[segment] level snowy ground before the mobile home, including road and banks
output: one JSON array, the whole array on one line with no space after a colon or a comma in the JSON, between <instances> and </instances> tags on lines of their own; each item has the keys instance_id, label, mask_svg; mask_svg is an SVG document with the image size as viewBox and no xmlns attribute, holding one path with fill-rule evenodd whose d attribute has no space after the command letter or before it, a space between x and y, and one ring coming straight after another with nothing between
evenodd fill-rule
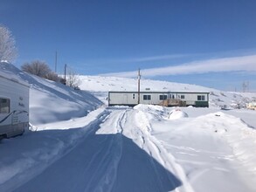
<instances>
[{"instance_id":1,"label":"level snowy ground before the mobile home, including road and banks","mask_svg":"<svg viewBox=\"0 0 256 192\"><path fill-rule=\"evenodd\" d=\"M169 120L168 110L101 108L5 140L0 191L255 190L253 127L211 109Z\"/></svg>"}]
</instances>

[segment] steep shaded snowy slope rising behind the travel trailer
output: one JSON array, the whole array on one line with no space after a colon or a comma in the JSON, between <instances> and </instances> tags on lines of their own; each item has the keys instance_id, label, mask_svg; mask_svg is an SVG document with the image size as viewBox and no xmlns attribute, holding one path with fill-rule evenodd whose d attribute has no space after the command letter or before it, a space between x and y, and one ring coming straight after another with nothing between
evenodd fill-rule
<instances>
[{"instance_id":1,"label":"steep shaded snowy slope rising behind the travel trailer","mask_svg":"<svg viewBox=\"0 0 256 192\"><path fill-rule=\"evenodd\" d=\"M74 91L68 86L22 72L16 66L0 63L0 71L24 79L31 85L30 121L42 124L86 115L102 105L91 93Z\"/></svg>"}]
</instances>

